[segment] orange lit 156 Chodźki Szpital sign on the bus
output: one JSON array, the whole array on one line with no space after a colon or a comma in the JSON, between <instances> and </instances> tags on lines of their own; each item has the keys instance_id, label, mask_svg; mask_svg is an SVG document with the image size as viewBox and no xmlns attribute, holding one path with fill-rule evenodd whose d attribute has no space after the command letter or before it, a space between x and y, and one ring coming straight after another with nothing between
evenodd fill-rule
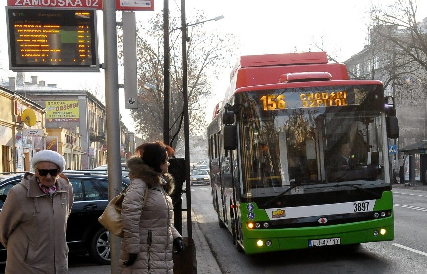
<instances>
[{"instance_id":1,"label":"orange lit 156 Chod\u017aki Szpital sign on the bus","mask_svg":"<svg viewBox=\"0 0 427 274\"><path fill-rule=\"evenodd\" d=\"M292 108L345 106L348 105L347 91L322 91L299 93L299 100L295 100L295 94L290 94ZM280 110L288 107L287 95L267 94L260 97L263 110ZM295 102L298 103L295 104Z\"/></svg>"}]
</instances>

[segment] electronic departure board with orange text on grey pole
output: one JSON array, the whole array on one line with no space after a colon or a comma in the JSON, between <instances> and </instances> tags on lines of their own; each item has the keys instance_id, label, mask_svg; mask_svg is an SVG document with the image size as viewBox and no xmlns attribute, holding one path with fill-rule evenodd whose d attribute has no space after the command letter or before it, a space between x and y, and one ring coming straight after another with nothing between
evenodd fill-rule
<instances>
[{"instance_id":1,"label":"electronic departure board with orange text on grey pole","mask_svg":"<svg viewBox=\"0 0 427 274\"><path fill-rule=\"evenodd\" d=\"M6 7L13 71L100 71L96 9Z\"/></svg>"}]
</instances>

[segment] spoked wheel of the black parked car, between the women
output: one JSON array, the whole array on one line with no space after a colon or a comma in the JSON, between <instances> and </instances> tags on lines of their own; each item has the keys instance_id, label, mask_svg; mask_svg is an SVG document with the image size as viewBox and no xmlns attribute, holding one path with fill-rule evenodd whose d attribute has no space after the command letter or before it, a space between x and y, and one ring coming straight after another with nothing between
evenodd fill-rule
<instances>
[{"instance_id":1,"label":"spoked wheel of the black parked car, between the women","mask_svg":"<svg viewBox=\"0 0 427 274\"><path fill-rule=\"evenodd\" d=\"M101 227L93 234L89 246L89 255L96 262L107 265L111 263L110 249L110 231Z\"/></svg>"}]
</instances>

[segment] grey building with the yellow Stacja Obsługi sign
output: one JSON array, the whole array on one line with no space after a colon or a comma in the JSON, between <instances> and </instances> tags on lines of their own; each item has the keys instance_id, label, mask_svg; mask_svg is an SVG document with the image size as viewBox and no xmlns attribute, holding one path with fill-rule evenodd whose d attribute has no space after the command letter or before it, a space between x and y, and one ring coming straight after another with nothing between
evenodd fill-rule
<instances>
[{"instance_id":1,"label":"grey building with the yellow Stacja Obs\u0142ugi sign","mask_svg":"<svg viewBox=\"0 0 427 274\"><path fill-rule=\"evenodd\" d=\"M37 76L25 81L23 73L10 77L3 87L22 98L31 100L44 112L41 128L46 128L47 138L56 136L58 152L66 157L67 168L92 169L107 164L106 109L89 91L66 90L55 84L46 85ZM134 134L121 122L122 160L133 153ZM128 132L125 134L125 132ZM125 148L128 153L125 154Z\"/></svg>"}]
</instances>

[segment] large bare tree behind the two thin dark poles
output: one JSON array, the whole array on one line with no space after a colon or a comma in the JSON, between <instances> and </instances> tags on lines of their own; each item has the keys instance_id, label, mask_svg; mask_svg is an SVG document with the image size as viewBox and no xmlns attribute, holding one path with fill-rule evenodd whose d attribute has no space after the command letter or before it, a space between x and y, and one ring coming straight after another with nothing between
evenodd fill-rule
<instances>
[{"instance_id":1,"label":"large bare tree behind the two thin dark poles","mask_svg":"<svg viewBox=\"0 0 427 274\"><path fill-rule=\"evenodd\" d=\"M197 11L197 16L189 22L205 20L204 12ZM182 45L180 17L170 17L170 113L172 146L182 139L183 97L182 97ZM206 24L206 23L204 23ZM188 62L188 107L190 134L202 133L207 127L204 105L212 97L209 79L217 77L220 70L230 67L235 60L231 43L231 34L218 30L208 32L203 25L188 27L187 62ZM122 37L119 35L119 41ZM119 57L122 50L119 49ZM131 110L136 131L147 140L162 139L163 131L163 18L162 13L155 15L148 24L140 23L137 28L138 58L138 109ZM156 89L144 89L149 82ZM204 83L203 85L200 85Z\"/></svg>"}]
</instances>

